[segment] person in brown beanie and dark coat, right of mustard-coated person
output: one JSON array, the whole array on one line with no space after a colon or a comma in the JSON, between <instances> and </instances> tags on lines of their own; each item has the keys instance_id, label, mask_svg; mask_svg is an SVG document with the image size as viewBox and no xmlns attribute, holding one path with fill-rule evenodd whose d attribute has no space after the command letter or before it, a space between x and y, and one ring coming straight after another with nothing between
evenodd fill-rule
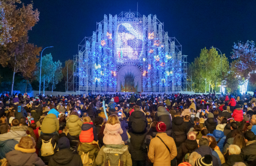
<instances>
[{"instance_id":1,"label":"person in brown beanie and dark coat, right of mustard-coated person","mask_svg":"<svg viewBox=\"0 0 256 166\"><path fill-rule=\"evenodd\" d=\"M180 148L178 149L177 163L179 164L184 161L188 162L189 156L186 154L187 153L191 154L197 148L198 148L198 144L196 141L196 133L193 131L189 132L187 135L186 141L181 143Z\"/></svg>"}]
</instances>

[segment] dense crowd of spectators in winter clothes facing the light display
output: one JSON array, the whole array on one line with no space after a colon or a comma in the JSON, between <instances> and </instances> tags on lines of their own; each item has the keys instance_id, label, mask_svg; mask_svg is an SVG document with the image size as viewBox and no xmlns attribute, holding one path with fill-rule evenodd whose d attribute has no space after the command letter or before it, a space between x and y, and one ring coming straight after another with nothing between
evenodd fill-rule
<instances>
[{"instance_id":1,"label":"dense crowd of spectators in winter clothes facing the light display","mask_svg":"<svg viewBox=\"0 0 256 166\"><path fill-rule=\"evenodd\" d=\"M2 166L255 166L250 94L0 97Z\"/></svg>"}]
</instances>

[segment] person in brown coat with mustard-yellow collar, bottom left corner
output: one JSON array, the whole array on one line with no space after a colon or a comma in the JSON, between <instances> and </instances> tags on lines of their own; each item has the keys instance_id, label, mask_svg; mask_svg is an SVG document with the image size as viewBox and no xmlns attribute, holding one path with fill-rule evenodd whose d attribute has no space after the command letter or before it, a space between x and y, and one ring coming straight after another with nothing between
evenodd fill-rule
<instances>
[{"instance_id":1,"label":"person in brown coat with mustard-yellow collar, bottom left corner","mask_svg":"<svg viewBox=\"0 0 256 166\"><path fill-rule=\"evenodd\" d=\"M45 163L37 156L35 140L30 136L24 136L19 144L15 145L15 150L6 154L7 165L35 165L45 166ZM2 163L3 165L3 163Z\"/></svg>"}]
</instances>

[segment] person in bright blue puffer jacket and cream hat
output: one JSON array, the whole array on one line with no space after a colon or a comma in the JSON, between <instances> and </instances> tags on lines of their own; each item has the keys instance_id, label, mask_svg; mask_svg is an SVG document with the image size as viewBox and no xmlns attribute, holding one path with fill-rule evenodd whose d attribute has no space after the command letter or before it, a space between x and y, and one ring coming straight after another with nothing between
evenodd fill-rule
<instances>
[{"instance_id":1,"label":"person in bright blue puffer jacket and cream hat","mask_svg":"<svg viewBox=\"0 0 256 166\"><path fill-rule=\"evenodd\" d=\"M223 151L224 148L224 142L226 139L226 136L224 135L224 127L225 125L219 124L217 125L216 129L213 131L213 134L207 134L210 136L213 136L215 140L217 141L217 146L220 148L220 151Z\"/></svg>"}]
</instances>

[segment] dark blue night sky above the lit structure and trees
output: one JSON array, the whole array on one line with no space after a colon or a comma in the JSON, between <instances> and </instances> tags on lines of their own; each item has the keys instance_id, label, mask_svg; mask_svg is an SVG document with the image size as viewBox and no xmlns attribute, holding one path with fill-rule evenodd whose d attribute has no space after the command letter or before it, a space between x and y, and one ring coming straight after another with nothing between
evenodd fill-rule
<instances>
[{"instance_id":1,"label":"dark blue night sky above the lit structure and trees","mask_svg":"<svg viewBox=\"0 0 256 166\"><path fill-rule=\"evenodd\" d=\"M234 42L256 41L255 0L35 0L40 20L29 32L29 42L42 48L54 46L43 55L52 53L53 60L65 62L78 53L85 36L92 36L104 14L114 17L137 11L137 2L141 15L157 15L168 36L177 38L188 62L210 46L230 60Z\"/></svg>"}]
</instances>

